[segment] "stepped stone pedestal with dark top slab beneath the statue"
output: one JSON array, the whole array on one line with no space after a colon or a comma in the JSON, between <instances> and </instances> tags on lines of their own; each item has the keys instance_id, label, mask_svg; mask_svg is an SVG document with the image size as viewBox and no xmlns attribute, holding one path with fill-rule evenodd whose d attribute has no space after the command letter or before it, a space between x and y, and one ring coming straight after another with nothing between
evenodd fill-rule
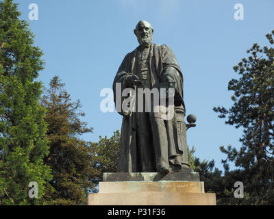
<instances>
[{"instance_id":1,"label":"stepped stone pedestal with dark top slab beneath the statue","mask_svg":"<svg viewBox=\"0 0 274 219\"><path fill-rule=\"evenodd\" d=\"M171 172L104 173L99 193L88 195L88 205L216 205L205 193L199 173L191 169Z\"/></svg>"}]
</instances>

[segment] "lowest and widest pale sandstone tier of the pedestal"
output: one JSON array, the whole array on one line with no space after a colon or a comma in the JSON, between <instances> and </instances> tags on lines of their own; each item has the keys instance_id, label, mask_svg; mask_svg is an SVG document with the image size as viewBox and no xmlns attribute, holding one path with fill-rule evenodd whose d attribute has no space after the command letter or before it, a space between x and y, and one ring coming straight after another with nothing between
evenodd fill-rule
<instances>
[{"instance_id":1,"label":"lowest and widest pale sandstone tier of the pedestal","mask_svg":"<svg viewBox=\"0 0 274 219\"><path fill-rule=\"evenodd\" d=\"M216 205L214 193L119 192L88 195L88 205Z\"/></svg>"}]
</instances>

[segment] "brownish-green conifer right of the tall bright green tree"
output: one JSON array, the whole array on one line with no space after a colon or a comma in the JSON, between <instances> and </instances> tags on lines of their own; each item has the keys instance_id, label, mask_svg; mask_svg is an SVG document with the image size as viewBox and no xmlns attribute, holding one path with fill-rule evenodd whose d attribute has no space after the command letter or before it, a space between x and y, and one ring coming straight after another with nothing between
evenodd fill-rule
<instances>
[{"instance_id":1,"label":"brownish-green conifer right of the tall bright green tree","mask_svg":"<svg viewBox=\"0 0 274 219\"><path fill-rule=\"evenodd\" d=\"M80 120L85 116L79 112L79 100L72 102L55 76L49 83L42 98L47 108L45 120L49 124L47 136L50 140L49 155L45 164L52 169L53 179L47 184L43 198L47 205L85 205L86 196L92 190L90 181L95 170L92 169L92 150L88 142L79 139L83 133L91 133L87 123Z\"/></svg>"}]
</instances>

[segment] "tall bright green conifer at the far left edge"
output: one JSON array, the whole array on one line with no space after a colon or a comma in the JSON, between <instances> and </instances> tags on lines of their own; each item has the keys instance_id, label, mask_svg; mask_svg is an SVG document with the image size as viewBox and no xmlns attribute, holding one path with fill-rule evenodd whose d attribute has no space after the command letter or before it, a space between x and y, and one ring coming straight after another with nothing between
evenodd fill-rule
<instances>
[{"instance_id":1,"label":"tall bright green conifer at the far left edge","mask_svg":"<svg viewBox=\"0 0 274 219\"><path fill-rule=\"evenodd\" d=\"M42 83L42 51L12 0L0 1L0 205L38 205L51 178L43 158L49 147ZM38 198L29 198L29 183Z\"/></svg>"}]
</instances>

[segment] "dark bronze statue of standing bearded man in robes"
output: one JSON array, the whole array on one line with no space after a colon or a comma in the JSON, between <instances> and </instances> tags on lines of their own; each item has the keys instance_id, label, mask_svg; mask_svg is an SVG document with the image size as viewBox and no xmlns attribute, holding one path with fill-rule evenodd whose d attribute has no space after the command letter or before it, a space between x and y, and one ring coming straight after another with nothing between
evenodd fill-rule
<instances>
[{"instance_id":1,"label":"dark bronze statue of standing bearded man in robes","mask_svg":"<svg viewBox=\"0 0 274 219\"><path fill-rule=\"evenodd\" d=\"M173 84L175 92L171 109L174 116L166 118L153 110L131 113L117 110L123 116L118 172L167 174L189 168L182 71L168 46L151 42L153 31L147 21L140 21L136 25L134 34L139 46L125 55L116 73L113 82L114 102L116 109L121 109L123 96L117 91L118 88L122 92L125 88L156 88L160 91L163 85ZM136 100L139 98L136 97ZM153 105L153 100L149 103ZM164 104L165 107L170 106L167 100Z\"/></svg>"}]
</instances>

